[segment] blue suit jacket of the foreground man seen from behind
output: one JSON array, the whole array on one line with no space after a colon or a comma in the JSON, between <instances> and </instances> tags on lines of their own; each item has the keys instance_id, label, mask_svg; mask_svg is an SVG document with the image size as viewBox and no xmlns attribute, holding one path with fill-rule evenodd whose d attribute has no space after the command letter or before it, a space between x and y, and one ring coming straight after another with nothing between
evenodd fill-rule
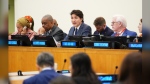
<instances>
[{"instance_id":1,"label":"blue suit jacket of the foreground man seen from behind","mask_svg":"<svg viewBox=\"0 0 150 84\"><path fill-rule=\"evenodd\" d=\"M44 70L39 74L23 81L23 84L48 84L52 79L59 76L54 69Z\"/></svg>"}]
</instances>

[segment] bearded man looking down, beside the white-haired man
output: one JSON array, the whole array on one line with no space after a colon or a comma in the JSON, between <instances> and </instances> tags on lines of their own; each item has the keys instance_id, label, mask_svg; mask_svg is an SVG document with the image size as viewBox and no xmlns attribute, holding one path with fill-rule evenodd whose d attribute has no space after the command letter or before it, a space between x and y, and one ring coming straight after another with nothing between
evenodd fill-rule
<instances>
[{"instance_id":1,"label":"bearded man looking down, beside the white-haired man","mask_svg":"<svg viewBox=\"0 0 150 84\"><path fill-rule=\"evenodd\" d=\"M114 33L113 30L106 26L106 21L103 17L97 17L93 24L96 27L93 35L111 36Z\"/></svg>"}]
</instances>

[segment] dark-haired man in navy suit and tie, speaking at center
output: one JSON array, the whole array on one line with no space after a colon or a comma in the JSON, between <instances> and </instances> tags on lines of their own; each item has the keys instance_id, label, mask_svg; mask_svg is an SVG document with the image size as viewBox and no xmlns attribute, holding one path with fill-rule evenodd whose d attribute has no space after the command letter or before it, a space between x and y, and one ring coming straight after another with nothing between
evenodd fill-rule
<instances>
[{"instance_id":1,"label":"dark-haired man in navy suit and tie, speaking at center","mask_svg":"<svg viewBox=\"0 0 150 84\"><path fill-rule=\"evenodd\" d=\"M73 26L70 28L68 35L64 40L68 40L68 36L88 36L91 35L91 27L84 23L83 13L80 10L73 10L71 13L71 22Z\"/></svg>"}]
</instances>

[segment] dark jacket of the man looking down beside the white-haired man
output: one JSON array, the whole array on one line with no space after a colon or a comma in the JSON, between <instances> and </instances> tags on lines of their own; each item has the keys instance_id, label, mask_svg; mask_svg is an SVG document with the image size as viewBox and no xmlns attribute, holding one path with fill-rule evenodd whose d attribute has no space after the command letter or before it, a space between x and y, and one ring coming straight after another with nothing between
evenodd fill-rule
<instances>
[{"instance_id":1,"label":"dark jacket of the man looking down beside the white-haired man","mask_svg":"<svg viewBox=\"0 0 150 84\"><path fill-rule=\"evenodd\" d=\"M113 30L111 30L108 26L106 26L105 30L100 32L100 35L111 36L113 34ZM98 31L95 31L93 35L99 35Z\"/></svg>"}]
</instances>

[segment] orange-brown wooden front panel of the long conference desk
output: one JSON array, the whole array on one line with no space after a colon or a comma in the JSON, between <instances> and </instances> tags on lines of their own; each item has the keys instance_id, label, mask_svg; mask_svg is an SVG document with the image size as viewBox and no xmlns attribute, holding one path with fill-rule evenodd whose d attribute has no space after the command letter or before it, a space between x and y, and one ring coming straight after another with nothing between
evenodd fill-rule
<instances>
[{"instance_id":1,"label":"orange-brown wooden front panel of the long conference desk","mask_svg":"<svg viewBox=\"0 0 150 84\"><path fill-rule=\"evenodd\" d=\"M57 70L68 70L70 57L78 52L89 55L93 69L96 73L114 74L115 67L120 68L123 58L131 49L98 49L98 48L62 48L62 47L32 47L32 46L9 46L8 65L9 72L37 71L36 58L41 52L50 52L57 63ZM64 59L66 63L64 64ZM64 65L64 68L63 68ZM119 70L116 70L118 73Z\"/></svg>"}]
</instances>

